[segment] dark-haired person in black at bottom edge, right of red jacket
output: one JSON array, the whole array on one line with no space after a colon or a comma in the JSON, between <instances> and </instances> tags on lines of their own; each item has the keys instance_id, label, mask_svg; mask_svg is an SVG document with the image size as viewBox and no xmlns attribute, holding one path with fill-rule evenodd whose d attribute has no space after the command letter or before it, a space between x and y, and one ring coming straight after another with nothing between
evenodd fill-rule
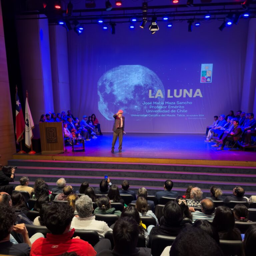
<instances>
[{"instance_id":1,"label":"dark-haired person in black at bottom edge, right of red jacket","mask_svg":"<svg viewBox=\"0 0 256 256\"><path fill-rule=\"evenodd\" d=\"M136 248L139 233L139 226L134 219L128 217L120 218L113 228L113 251L104 250L98 253L97 256L151 256L149 248Z\"/></svg>"}]
</instances>

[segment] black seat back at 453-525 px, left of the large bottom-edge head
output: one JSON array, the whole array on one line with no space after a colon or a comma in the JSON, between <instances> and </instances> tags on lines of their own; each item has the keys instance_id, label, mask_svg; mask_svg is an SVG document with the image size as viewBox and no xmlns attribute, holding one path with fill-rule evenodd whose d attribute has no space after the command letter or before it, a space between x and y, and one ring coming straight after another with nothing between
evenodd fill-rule
<instances>
[{"instance_id":1,"label":"black seat back at 453-525 px, left of the large bottom-edge head","mask_svg":"<svg viewBox=\"0 0 256 256\"><path fill-rule=\"evenodd\" d=\"M160 256L166 246L172 245L176 237L155 235L151 240L152 256Z\"/></svg>"}]
</instances>

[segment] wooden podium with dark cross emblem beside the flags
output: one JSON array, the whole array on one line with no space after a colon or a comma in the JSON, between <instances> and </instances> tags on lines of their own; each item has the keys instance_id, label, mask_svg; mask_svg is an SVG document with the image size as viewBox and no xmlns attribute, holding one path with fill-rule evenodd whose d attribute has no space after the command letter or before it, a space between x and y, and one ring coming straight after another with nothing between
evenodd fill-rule
<instances>
[{"instance_id":1,"label":"wooden podium with dark cross emblem beside the flags","mask_svg":"<svg viewBox=\"0 0 256 256\"><path fill-rule=\"evenodd\" d=\"M62 122L39 123L42 155L64 152Z\"/></svg>"}]
</instances>

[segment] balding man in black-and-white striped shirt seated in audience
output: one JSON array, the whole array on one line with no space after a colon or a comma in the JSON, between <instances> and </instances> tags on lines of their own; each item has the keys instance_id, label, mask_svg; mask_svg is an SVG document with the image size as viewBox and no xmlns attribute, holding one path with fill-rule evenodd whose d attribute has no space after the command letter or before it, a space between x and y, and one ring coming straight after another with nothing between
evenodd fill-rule
<instances>
[{"instance_id":1,"label":"balding man in black-and-white striped shirt seated in audience","mask_svg":"<svg viewBox=\"0 0 256 256\"><path fill-rule=\"evenodd\" d=\"M200 211L192 212L192 223L194 223L196 220L210 220L212 221L214 218L214 210L215 205L211 199L203 199L201 201L201 209Z\"/></svg>"}]
</instances>

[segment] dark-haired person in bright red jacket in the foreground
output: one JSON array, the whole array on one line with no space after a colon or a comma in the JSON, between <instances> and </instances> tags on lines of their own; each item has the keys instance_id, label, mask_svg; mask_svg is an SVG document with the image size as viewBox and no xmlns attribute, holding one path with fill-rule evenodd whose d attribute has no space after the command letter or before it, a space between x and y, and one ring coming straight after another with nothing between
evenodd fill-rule
<instances>
[{"instance_id":1,"label":"dark-haired person in bright red jacket in the foreground","mask_svg":"<svg viewBox=\"0 0 256 256\"><path fill-rule=\"evenodd\" d=\"M31 247L30 255L60 255L64 252L76 252L78 255L96 255L96 251L86 241L72 236L70 229L74 210L67 204L51 204L45 209L44 221L51 231L46 238L37 239Z\"/></svg>"}]
</instances>

